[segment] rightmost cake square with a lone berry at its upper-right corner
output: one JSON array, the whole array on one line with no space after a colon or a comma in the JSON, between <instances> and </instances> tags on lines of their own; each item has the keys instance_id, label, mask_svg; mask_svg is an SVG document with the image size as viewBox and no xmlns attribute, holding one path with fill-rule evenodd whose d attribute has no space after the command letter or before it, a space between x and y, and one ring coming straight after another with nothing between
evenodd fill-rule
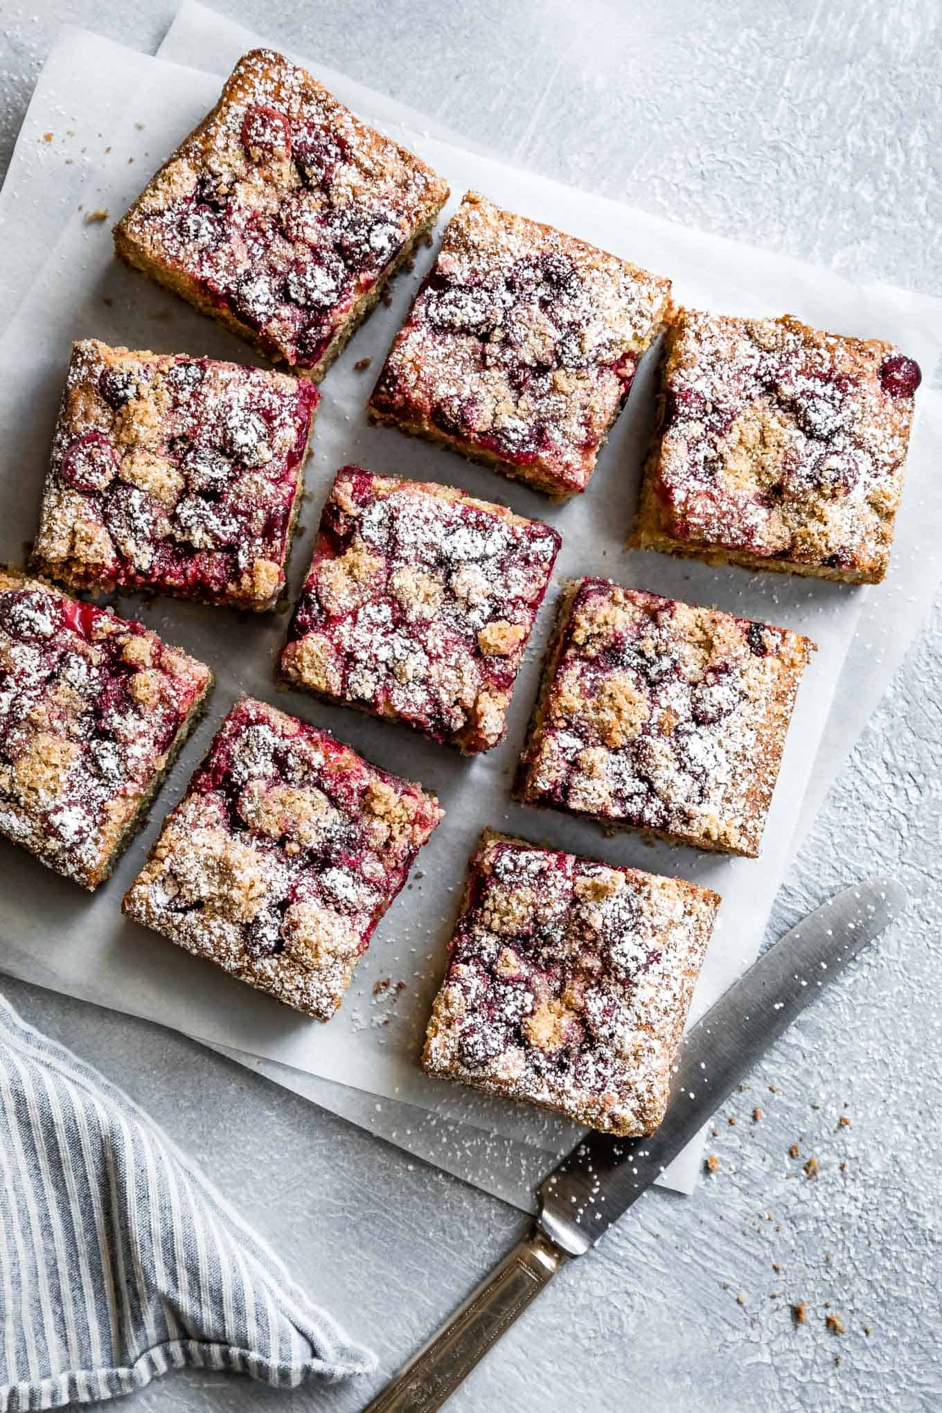
<instances>
[{"instance_id":1,"label":"rightmost cake square with a lone berry at its upper-right corner","mask_svg":"<svg viewBox=\"0 0 942 1413\"><path fill-rule=\"evenodd\" d=\"M890 343L685 309L631 544L878 584L919 366Z\"/></svg>"}]
</instances>

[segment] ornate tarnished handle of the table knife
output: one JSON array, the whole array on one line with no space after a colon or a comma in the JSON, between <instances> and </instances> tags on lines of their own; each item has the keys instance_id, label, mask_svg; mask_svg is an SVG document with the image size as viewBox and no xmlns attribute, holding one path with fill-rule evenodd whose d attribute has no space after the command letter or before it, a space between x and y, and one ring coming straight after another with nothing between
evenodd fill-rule
<instances>
[{"instance_id":1,"label":"ornate tarnished handle of the table knife","mask_svg":"<svg viewBox=\"0 0 942 1413\"><path fill-rule=\"evenodd\" d=\"M549 1284L565 1252L534 1232L521 1241L363 1413L434 1413Z\"/></svg>"}]
</instances>

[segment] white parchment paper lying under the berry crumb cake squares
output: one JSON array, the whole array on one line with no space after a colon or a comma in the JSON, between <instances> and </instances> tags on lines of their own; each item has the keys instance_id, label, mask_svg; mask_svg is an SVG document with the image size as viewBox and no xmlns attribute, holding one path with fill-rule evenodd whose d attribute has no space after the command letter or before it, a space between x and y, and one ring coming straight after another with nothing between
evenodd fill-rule
<instances>
[{"instance_id":1,"label":"white parchment paper lying under the berry crumb cake squares","mask_svg":"<svg viewBox=\"0 0 942 1413\"><path fill-rule=\"evenodd\" d=\"M85 205L107 206L113 216L124 209L153 168L212 105L219 90L217 78L147 59L79 31L65 37L52 62L59 65L59 88L48 85L44 92L44 102L49 106L42 122L48 122L54 134L56 123L59 130L65 127L68 131L71 126L76 133L76 153L92 140L97 144L102 167ZM227 59L225 68L229 68ZM86 85L96 95L96 113L105 110L105 96L120 86L124 99L109 110L113 131L103 133L97 127L93 134L90 129L82 129L82 119L75 114L82 113ZM336 79L333 86L340 96L350 97ZM133 95L130 100L129 93ZM364 116L377 116L363 103L359 106ZM31 112L30 120L34 119L34 131L41 131L40 114ZM936 331L941 326L938 301L878 287L860 290L840 277L797 261L682 230L613 202L508 170L453 144L403 130L394 122L386 120L386 126L449 178L455 198L465 188L477 187L506 205L672 274L678 295L688 302L741 312L771 314L791 308L825 326L893 338L924 367L935 366L939 352ZM106 146L112 147L109 154L103 151ZM55 157L64 162L68 151L64 143L61 153L44 153L42 172L52 177ZM28 276L35 274L35 260L30 222L17 222L17 208L23 213L24 205L23 201L14 206L4 203L4 216L7 268L16 270L17 260L23 257L20 268L27 271L25 284ZM292 560L292 589L304 575L309 533L316 526L319 504L333 471L346 461L362 461L381 472L448 480L549 520L564 536L559 575L607 574L626 584L693 602L716 602L722 608L809 633L821 651L799 694L763 859L725 861L664 845L651 848L627 835L606 839L589 824L552 812L535 812L508 801L507 788L537 688L552 602L545 606L534 633L504 746L484 759L463 762L405 728L371 722L302 697L274 698L270 664L282 639L282 619L273 616L240 623L226 610L167 599L148 608L126 598L123 612L140 613L171 642L182 643L216 668L219 685L210 721L181 757L160 797L151 827L129 851L116 880L97 897L78 893L13 848L0 851L3 965L25 979L148 1016L210 1043L249 1051L258 1056L263 1065L264 1061L277 1061L278 1068L295 1067L323 1077L335 1088L362 1088L518 1142L555 1149L569 1140L573 1133L571 1126L499 1101L480 1101L459 1088L427 1080L415 1067L431 996L443 965L463 866L480 827L490 822L555 846L681 873L716 887L725 903L720 930L698 988L695 1005L702 1009L754 954L791 853L795 829L809 822L802 812L802 800L864 595L823 582L749 575L739 569L717 571L651 554L621 554L650 415L650 367L640 374L630 407L600 458L589 493L562 509L548 507L524 487L510 486L443 451L407 441L388 430L369 428L363 404L371 377L401 322L415 281L431 259L431 252L422 252L415 276L397 283L391 308L380 308L325 380L315 455L308 465L311 497L302 512L308 537L299 541ZM16 297L10 298L8 307L14 302ZM4 374L0 379L4 507L0 554L7 558L18 558L23 541L30 540L35 530L38 493L69 342L90 335L131 346L251 360L244 345L140 276L120 268L112 259L107 225L89 226L71 208L62 235L0 342ZM373 357L373 369L367 376L354 373L353 362L366 356ZM873 598L880 595L887 605L894 605L897 637L900 632L905 636L915 632L925 602L922 596L918 602L908 602L912 598L907 592L908 568L915 561L924 586L938 578L938 571L924 557L924 545L936 544L942 531L939 512L932 504L932 448L938 444L941 418L936 398L922 396L921 404L893 577L873 593ZM900 584L904 586L900 588ZM853 694L856 687L853 680L845 682L842 678L842 698L846 691ZM278 705L329 726L378 764L436 788L448 811L445 824L419 859L422 877L412 882L377 930L342 1012L328 1026L294 1016L209 964L120 920L117 904L123 887L140 868L158 820L179 798L210 729L239 691L274 698ZM373 1000L373 983L384 976L407 982L395 1006ZM318 1095L312 1092L311 1096ZM460 1171L455 1154L449 1159L443 1166ZM678 1173L679 1186L689 1186L695 1166L696 1156Z\"/></svg>"}]
</instances>

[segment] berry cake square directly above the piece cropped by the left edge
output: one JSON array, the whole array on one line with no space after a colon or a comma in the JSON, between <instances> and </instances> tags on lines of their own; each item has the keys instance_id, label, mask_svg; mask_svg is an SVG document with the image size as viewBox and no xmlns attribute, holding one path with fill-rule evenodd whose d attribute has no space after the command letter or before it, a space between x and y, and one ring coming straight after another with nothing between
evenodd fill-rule
<instances>
[{"instance_id":1,"label":"berry cake square directly above the piece cropped by the left edge","mask_svg":"<svg viewBox=\"0 0 942 1413\"><path fill-rule=\"evenodd\" d=\"M76 589L274 608L318 398L284 373L75 343L34 562Z\"/></svg>"}]
</instances>

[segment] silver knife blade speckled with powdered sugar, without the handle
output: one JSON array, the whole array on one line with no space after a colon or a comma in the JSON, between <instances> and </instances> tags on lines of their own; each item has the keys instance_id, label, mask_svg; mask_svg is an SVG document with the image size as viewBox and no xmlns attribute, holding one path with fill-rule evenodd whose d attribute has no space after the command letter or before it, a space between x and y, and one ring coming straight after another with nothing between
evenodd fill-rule
<instances>
[{"instance_id":1,"label":"silver knife blade speckled with powdered sugar, without the handle","mask_svg":"<svg viewBox=\"0 0 942 1413\"><path fill-rule=\"evenodd\" d=\"M763 952L684 1037L660 1129L638 1139L590 1133L541 1183L538 1225L547 1236L569 1256L595 1245L809 1000L905 906L907 893L897 879L863 879Z\"/></svg>"}]
</instances>

